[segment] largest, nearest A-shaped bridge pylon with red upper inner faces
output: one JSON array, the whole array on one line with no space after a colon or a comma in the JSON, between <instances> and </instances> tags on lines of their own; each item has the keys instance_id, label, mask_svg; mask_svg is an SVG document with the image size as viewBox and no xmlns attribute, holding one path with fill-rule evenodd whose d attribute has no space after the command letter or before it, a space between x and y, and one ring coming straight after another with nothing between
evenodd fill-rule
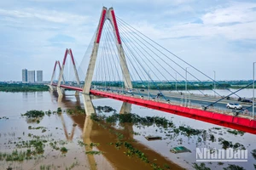
<instances>
[{"instance_id":1,"label":"largest, nearest A-shaped bridge pylon with red upper inner faces","mask_svg":"<svg viewBox=\"0 0 256 170\"><path fill-rule=\"evenodd\" d=\"M100 40L101 40L102 28L103 28L106 20L109 20L111 23L111 26L113 27L113 34L115 37L116 46L117 46L118 53L119 53L119 61L120 61L120 66L121 66L121 70L122 70L122 74L123 74L123 79L125 82L125 88L132 88L131 77L130 77L128 66L126 63L124 48L122 47L121 38L119 36L119 28L118 28L118 25L116 22L113 8L103 7L102 15L101 15L99 25L98 25L97 31L96 31L94 46L92 49L92 53L90 55L90 63L88 65L86 77L84 80L84 88L83 88L84 94L90 94L90 85L91 85L92 77L93 77L94 70L95 70L96 57L97 57L98 48L99 48L99 44L100 44Z\"/></svg>"}]
</instances>

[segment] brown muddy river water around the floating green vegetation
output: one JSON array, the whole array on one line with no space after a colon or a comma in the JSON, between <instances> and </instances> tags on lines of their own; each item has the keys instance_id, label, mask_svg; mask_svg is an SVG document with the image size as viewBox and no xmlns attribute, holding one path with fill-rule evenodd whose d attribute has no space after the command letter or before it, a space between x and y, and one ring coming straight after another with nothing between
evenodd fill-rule
<instances>
[{"instance_id":1,"label":"brown muddy river water around the floating green vegetation","mask_svg":"<svg viewBox=\"0 0 256 170\"><path fill-rule=\"evenodd\" d=\"M162 111L154 111L145 107L131 105L131 112L138 116L161 116L172 121L176 127L189 126L206 130L197 135L184 132L174 133L171 128L132 125L129 123L109 125L99 124L84 115L67 114L67 109L75 109L77 105L84 108L83 99L67 92L67 96L58 99L49 92L35 93L1 93L0 92L0 169L154 169L152 163L146 163L137 156L126 156L125 147L116 147L119 139L116 134L124 135L134 148L140 150L148 160L162 169L195 169L196 148L222 149L222 141L242 144L247 149L246 162L206 161L205 166L211 169L223 169L230 164L254 169L256 160L252 150L256 149L256 136L250 133L230 133L229 128L218 127L206 122L175 116ZM123 102L113 99L94 99L95 107L108 105L120 111ZM62 114L44 116L40 122L30 122L20 114L26 111L57 111L61 107ZM98 113L112 115L110 113ZM31 126L31 127L30 127ZM37 129L38 127L38 129ZM232 130L232 129L231 129ZM114 133L113 133L114 132ZM161 136L161 140L148 141L145 136ZM25 147L26 141L44 141L44 151L32 155L32 159L24 161L1 160L1 154L14 150L33 150L33 146ZM170 149L185 146L191 152L174 154ZM61 148L67 152L61 152ZM90 154L92 150L99 154ZM96 152L98 151L98 152ZM198 165L201 162L196 162Z\"/></svg>"}]
</instances>

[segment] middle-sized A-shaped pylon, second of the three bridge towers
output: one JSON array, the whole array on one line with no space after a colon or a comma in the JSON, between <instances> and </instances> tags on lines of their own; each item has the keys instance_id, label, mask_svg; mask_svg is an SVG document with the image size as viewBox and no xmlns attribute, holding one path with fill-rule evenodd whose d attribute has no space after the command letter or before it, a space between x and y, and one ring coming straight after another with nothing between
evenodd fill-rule
<instances>
[{"instance_id":1,"label":"middle-sized A-shaped pylon, second of the three bridge towers","mask_svg":"<svg viewBox=\"0 0 256 170\"><path fill-rule=\"evenodd\" d=\"M77 84L78 84L78 85L80 84L80 81L79 81L79 74L78 74L78 71L77 71L77 68L76 68L74 59L73 59L72 50L71 50L71 48L66 49L66 52L65 52L65 55L64 55L64 59L63 59L62 65L61 65L61 71L60 71L60 75L59 75L59 79L58 79L58 85L57 85L57 92L58 92L58 95L59 95L59 96L63 95L63 93L64 93L64 91L61 89L61 81L64 82L63 72L64 72L64 68L65 68L65 63L66 63L66 59L67 59L67 54L69 54L70 57L71 57L71 59L72 59L72 62L73 62L73 71L74 71L74 73L75 73L75 77L76 77ZM76 94L75 94L75 95L79 95L79 91L76 91Z\"/></svg>"}]
</instances>

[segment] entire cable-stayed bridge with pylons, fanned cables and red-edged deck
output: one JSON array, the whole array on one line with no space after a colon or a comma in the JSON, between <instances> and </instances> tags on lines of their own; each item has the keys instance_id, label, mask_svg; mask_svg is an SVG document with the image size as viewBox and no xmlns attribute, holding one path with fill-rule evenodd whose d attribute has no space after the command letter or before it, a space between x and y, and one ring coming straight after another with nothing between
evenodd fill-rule
<instances>
[{"instance_id":1,"label":"entire cable-stayed bridge with pylons, fanned cables and red-edged deck","mask_svg":"<svg viewBox=\"0 0 256 170\"><path fill-rule=\"evenodd\" d=\"M83 59L77 68L72 49L66 49L62 65L55 61L50 89L56 89L59 96L65 94L64 89L75 90L75 95L84 96L84 105L86 98L94 95L256 133L254 99L253 104L245 103L238 95L253 82L231 91L227 84L216 82L116 17L113 8L102 8L86 54L88 66ZM225 88L228 95L218 94L216 87ZM205 94L204 89L214 95ZM198 94L194 94L195 90ZM239 110L238 105L235 110L226 109L227 103L241 104L243 109ZM86 114L90 116L91 111Z\"/></svg>"}]
</instances>

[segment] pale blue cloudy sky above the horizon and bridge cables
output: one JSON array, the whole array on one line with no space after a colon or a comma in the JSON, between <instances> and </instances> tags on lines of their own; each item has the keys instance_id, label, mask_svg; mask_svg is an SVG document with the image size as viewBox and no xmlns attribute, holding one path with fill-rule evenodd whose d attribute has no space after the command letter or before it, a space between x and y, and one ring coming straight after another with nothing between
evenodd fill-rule
<instances>
[{"instance_id":1,"label":"pale blue cloudy sky above the horizon and bridge cables","mask_svg":"<svg viewBox=\"0 0 256 170\"><path fill-rule=\"evenodd\" d=\"M0 81L21 81L23 68L49 80L66 48L80 62L102 6L217 80L253 78L255 0L8 0L0 2Z\"/></svg>"}]
</instances>

